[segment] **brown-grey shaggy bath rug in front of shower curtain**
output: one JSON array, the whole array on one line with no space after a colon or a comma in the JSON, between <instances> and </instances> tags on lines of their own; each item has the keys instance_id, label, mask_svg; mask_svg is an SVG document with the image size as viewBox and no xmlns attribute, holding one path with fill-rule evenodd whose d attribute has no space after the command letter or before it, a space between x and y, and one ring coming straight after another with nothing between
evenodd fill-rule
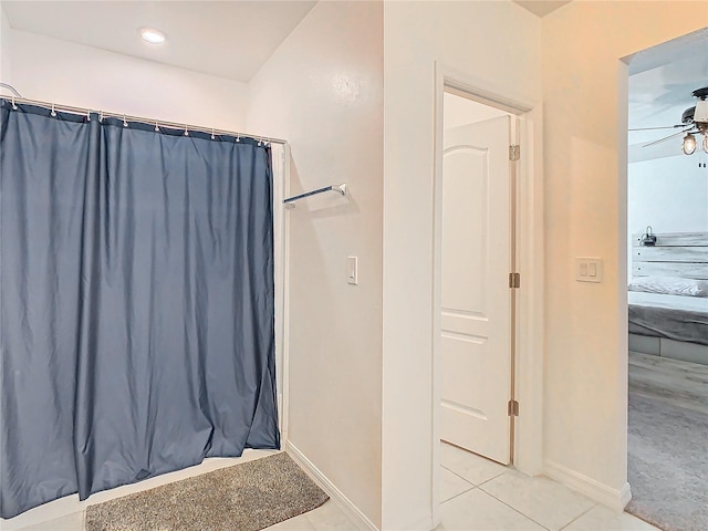
<instances>
[{"instance_id":1,"label":"brown-grey shaggy bath rug in front of shower curtain","mask_svg":"<svg viewBox=\"0 0 708 531\"><path fill-rule=\"evenodd\" d=\"M281 452L90 506L85 531L258 531L327 499Z\"/></svg>"}]
</instances>

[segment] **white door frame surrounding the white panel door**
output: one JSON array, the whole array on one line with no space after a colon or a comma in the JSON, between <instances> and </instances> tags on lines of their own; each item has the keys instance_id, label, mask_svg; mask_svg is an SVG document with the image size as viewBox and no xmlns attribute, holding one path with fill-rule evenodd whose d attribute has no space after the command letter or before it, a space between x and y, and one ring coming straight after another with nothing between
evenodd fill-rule
<instances>
[{"instance_id":1,"label":"white door frame surrounding the white panel door","mask_svg":"<svg viewBox=\"0 0 708 531\"><path fill-rule=\"evenodd\" d=\"M543 471L543 187L541 157L541 105L508 94L486 80L435 63L435 169L433 177L433 329L431 352L431 512L434 524L439 523L440 465L440 310L441 310L441 215L442 215L442 150L444 93L472 100L517 116L517 142L521 159L516 175L516 264L521 273L521 288L516 293L512 322L516 323L513 394L520 404L520 416L512 429L512 464L530 476Z\"/></svg>"}]
</instances>

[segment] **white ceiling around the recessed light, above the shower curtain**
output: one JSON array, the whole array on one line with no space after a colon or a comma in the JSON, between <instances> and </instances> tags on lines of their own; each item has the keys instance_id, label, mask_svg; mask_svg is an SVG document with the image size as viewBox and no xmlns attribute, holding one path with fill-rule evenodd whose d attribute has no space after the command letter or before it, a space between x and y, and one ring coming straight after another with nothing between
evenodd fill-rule
<instances>
[{"instance_id":1,"label":"white ceiling around the recessed light, above the shower curtain","mask_svg":"<svg viewBox=\"0 0 708 531\"><path fill-rule=\"evenodd\" d=\"M15 30L247 83L315 3L2 0L2 10ZM144 42L140 27L167 41Z\"/></svg>"}]
</instances>

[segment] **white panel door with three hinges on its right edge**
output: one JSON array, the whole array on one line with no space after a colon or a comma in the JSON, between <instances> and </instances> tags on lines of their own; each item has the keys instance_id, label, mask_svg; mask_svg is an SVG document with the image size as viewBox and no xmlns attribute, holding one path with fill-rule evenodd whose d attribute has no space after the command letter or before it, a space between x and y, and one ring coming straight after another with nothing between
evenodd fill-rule
<instances>
[{"instance_id":1,"label":"white panel door with three hinges on its right edge","mask_svg":"<svg viewBox=\"0 0 708 531\"><path fill-rule=\"evenodd\" d=\"M445 132L441 438L504 465L511 418L510 116Z\"/></svg>"}]
</instances>

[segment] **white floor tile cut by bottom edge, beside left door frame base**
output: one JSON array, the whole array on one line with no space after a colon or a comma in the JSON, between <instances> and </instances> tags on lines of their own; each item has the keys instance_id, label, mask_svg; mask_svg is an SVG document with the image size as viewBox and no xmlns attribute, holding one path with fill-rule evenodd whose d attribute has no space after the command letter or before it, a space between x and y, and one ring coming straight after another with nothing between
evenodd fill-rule
<instances>
[{"instance_id":1,"label":"white floor tile cut by bottom edge, beside left door frame base","mask_svg":"<svg viewBox=\"0 0 708 531\"><path fill-rule=\"evenodd\" d=\"M544 531L538 523L479 489L440 506L436 531Z\"/></svg>"}]
</instances>

